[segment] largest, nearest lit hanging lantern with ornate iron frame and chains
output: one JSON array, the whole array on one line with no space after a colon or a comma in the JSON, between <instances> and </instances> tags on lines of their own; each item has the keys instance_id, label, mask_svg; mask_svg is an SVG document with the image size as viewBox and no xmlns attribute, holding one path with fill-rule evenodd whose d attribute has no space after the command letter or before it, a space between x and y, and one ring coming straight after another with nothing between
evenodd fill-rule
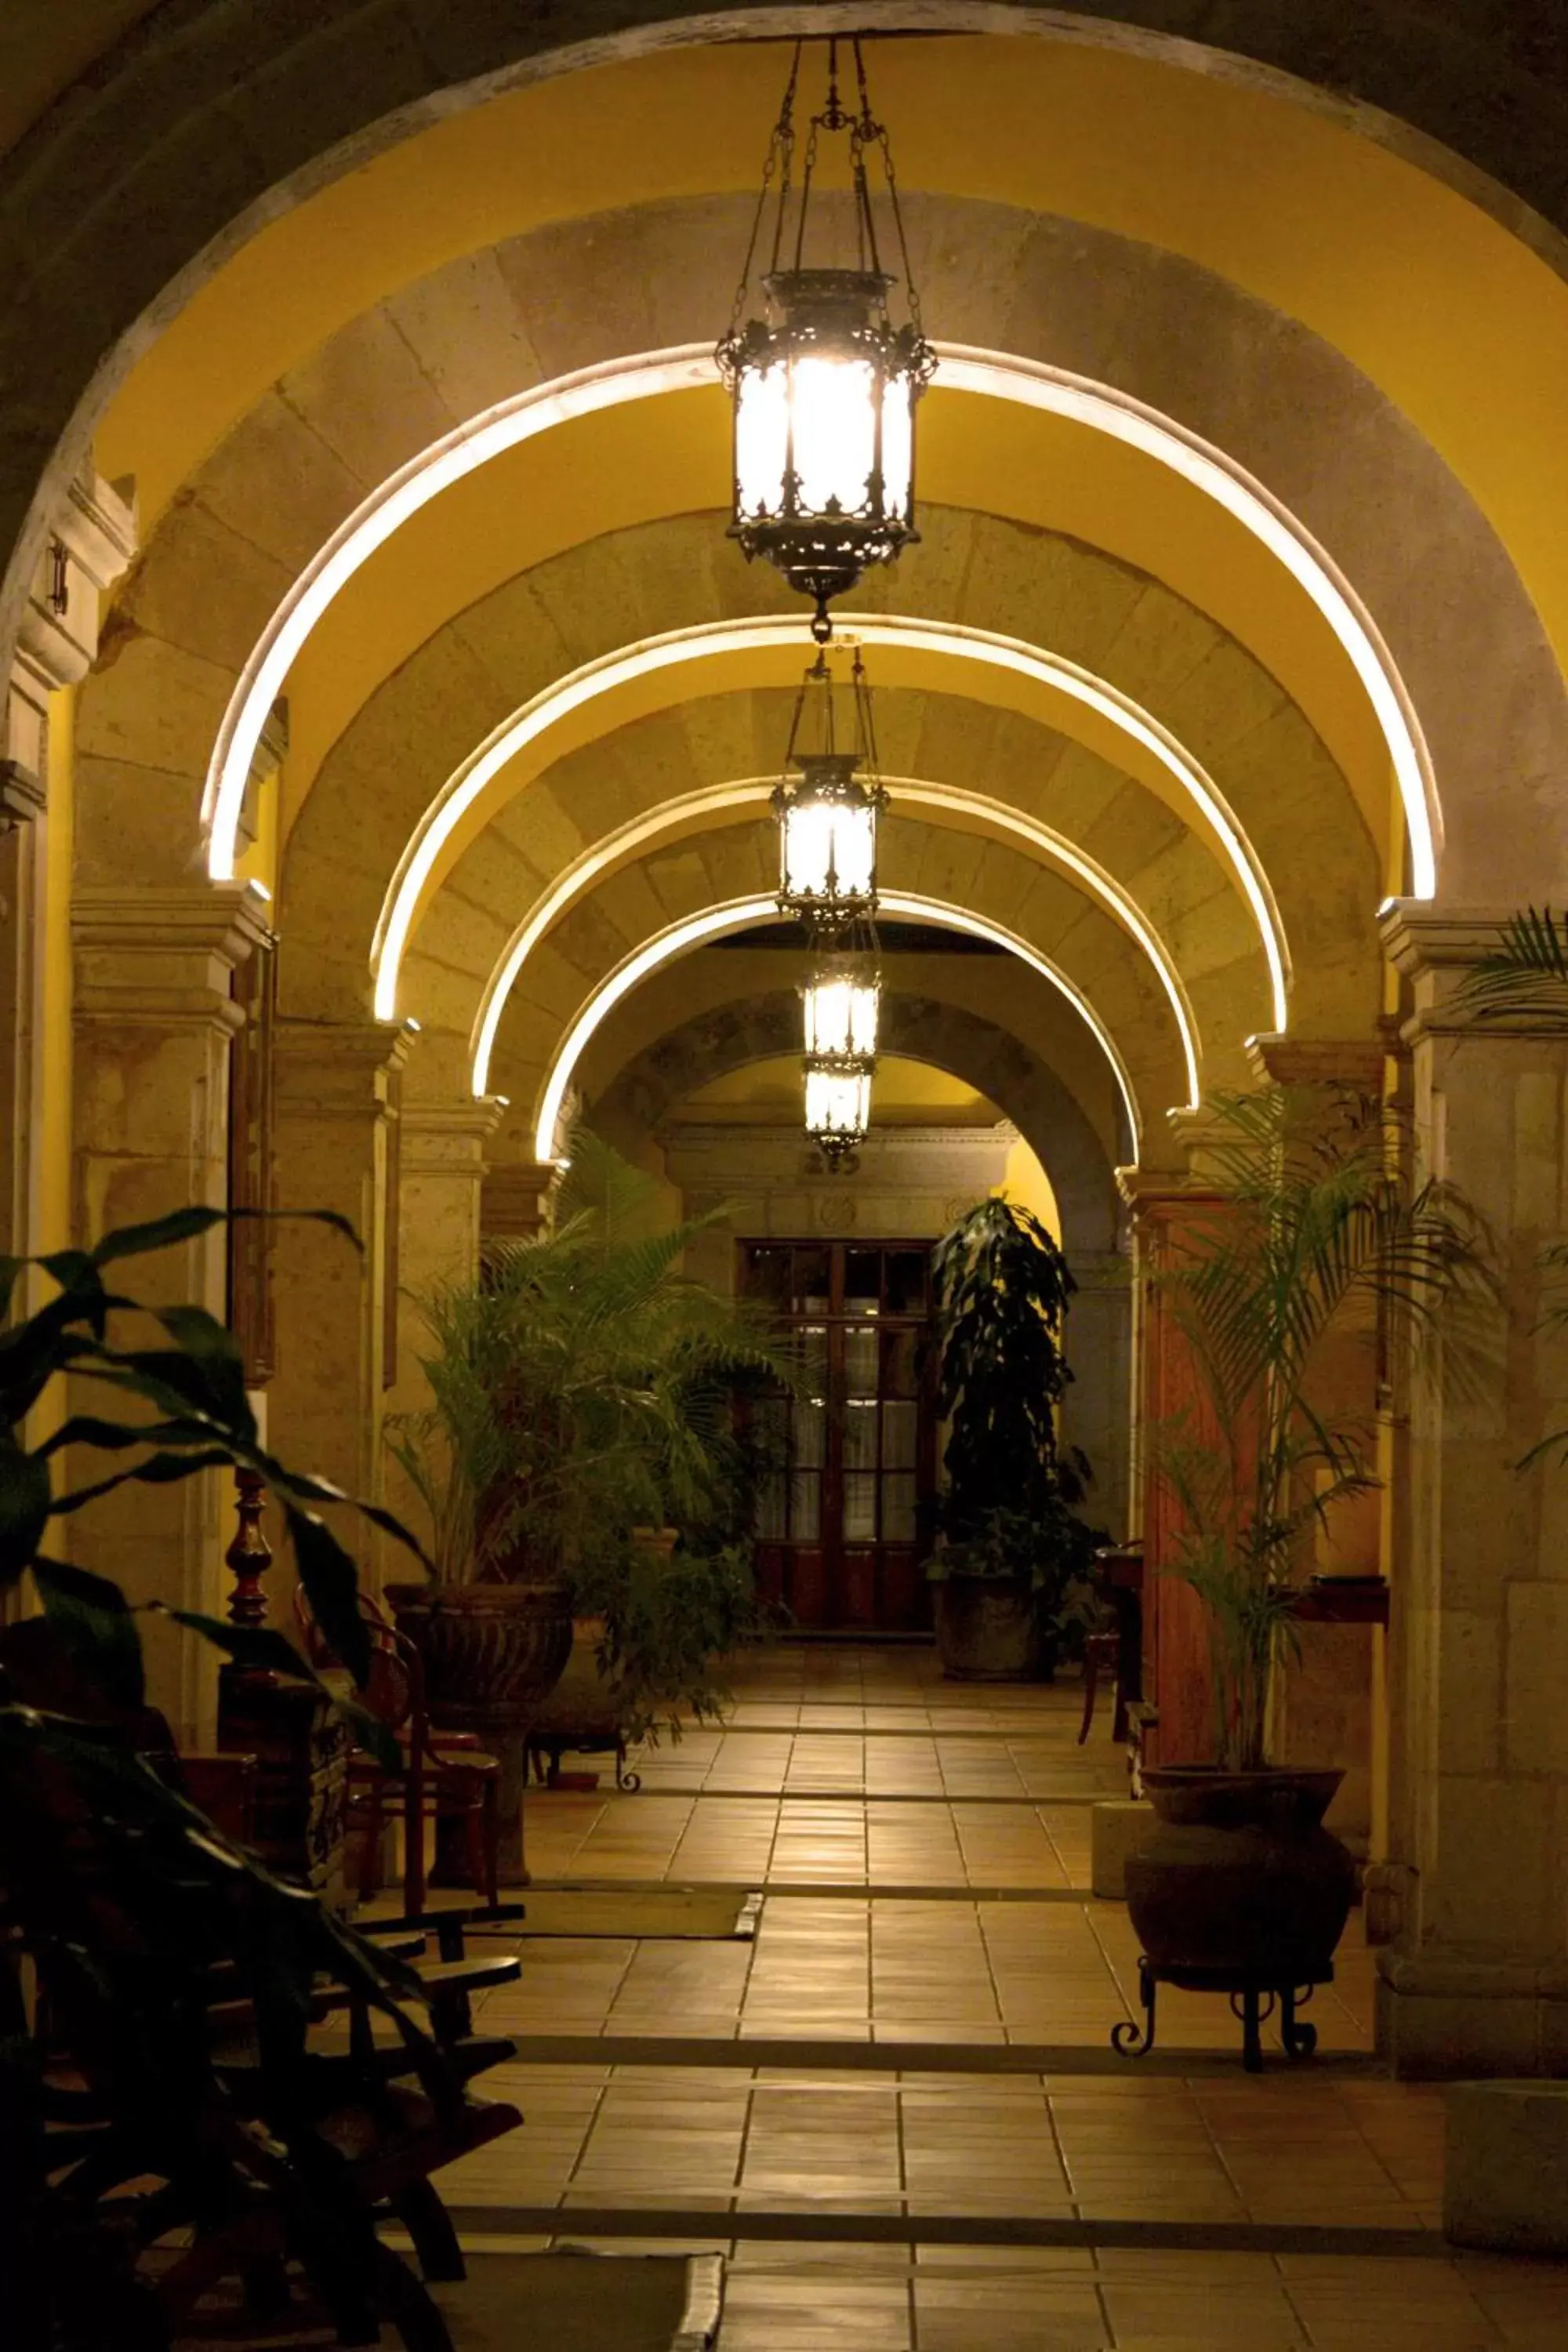
<instances>
[{"instance_id":1,"label":"largest, nearest lit hanging lantern with ornate iron frame and chains","mask_svg":"<svg viewBox=\"0 0 1568 2352\"><path fill-rule=\"evenodd\" d=\"M827 42L827 101L811 118L795 186L795 94L802 45L785 87L762 174L752 240L745 252L729 334L717 348L733 405L733 520L729 536L748 560L764 555L792 588L816 602L811 633L832 635L827 604L856 586L867 564L891 562L914 529L914 407L936 369L919 325L919 296L898 209L889 134L875 120L860 42L853 111L839 96L839 42ZM806 259L806 221L823 134L849 143L856 266L825 268ZM882 158L886 216L903 263L907 320L896 325L889 294L898 285L882 266L867 153ZM762 315L745 318L752 266L773 223L762 273Z\"/></svg>"}]
</instances>

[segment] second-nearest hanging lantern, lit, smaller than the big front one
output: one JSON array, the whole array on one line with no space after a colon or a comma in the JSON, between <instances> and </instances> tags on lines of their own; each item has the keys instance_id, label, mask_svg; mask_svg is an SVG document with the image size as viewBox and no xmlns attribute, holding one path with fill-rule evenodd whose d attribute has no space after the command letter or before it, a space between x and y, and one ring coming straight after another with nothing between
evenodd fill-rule
<instances>
[{"instance_id":1,"label":"second-nearest hanging lantern, lit, smaller than the big front one","mask_svg":"<svg viewBox=\"0 0 1568 2352\"><path fill-rule=\"evenodd\" d=\"M853 748L839 750L832 673L818 654L795 699L785 776L773 793L778 913L827 938L877 908L877 818L886 793L877 781L872 701L858 652L853 710Z\"/></svg>"}]
</instances>

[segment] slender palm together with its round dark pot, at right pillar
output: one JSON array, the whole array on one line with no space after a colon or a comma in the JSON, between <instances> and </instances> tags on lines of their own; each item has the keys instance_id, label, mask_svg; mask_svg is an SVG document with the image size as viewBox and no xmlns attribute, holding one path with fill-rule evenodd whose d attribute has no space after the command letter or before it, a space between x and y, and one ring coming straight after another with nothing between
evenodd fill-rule
<instances>
[{"instance_id":1,"label":"slender palm together with its round dark pot, at right pillar","mask_svg":"<svg viewBox=\"0 0 1568 2352\"><path fill-rule=\"evenodd\" d=\"M1410 1174L1380 1103L1265 1089L1213 1105L1208 1195L1152 1275L1192 1371L1194 1404L1152 1432L1173 1517L1166 1573L1204 1602L1213 1755L1143 1783L1159 1816L1126 1865L1133 1926L1159 1971L1307 1985L1354 1896L1354 1863L1321 1828L1342 1778L1269 1762L1269 1691L1295 1651L1316 1529L1378 1484L1375 1416L1347 1395L1488 1287L1479 1218Z\"/></svg>"}]
</instances>

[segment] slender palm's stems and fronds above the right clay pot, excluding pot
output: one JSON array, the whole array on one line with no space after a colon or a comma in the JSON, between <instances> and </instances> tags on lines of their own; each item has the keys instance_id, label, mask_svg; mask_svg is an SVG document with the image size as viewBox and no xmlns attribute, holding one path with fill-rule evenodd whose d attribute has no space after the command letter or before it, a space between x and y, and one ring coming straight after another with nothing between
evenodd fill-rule
<instances>
[{"instance_id":1,"label":"slender palm's stems and fronds above the right clay pot, excluding pot","mask_svg":"<svg viewBox=\"0 0 1568 2352\"><path fill-rule=\"evenodd\" d=\"M1340 1089L1213 1103L1206 1192L1152 1282L1197 1402L1152 1432L1173 1505L1171 1573L1208 1606L1215 1752L1265 1764L1269 1682L1295 1646L1314 1529L1378 1486L1375 1411L1338 1409L1356 1350L1380 1367L1460 1350L1490 1298L1488 1242L1446 1183L1415 1181L1394 1112Z\"/></svg>"}]
</instances>

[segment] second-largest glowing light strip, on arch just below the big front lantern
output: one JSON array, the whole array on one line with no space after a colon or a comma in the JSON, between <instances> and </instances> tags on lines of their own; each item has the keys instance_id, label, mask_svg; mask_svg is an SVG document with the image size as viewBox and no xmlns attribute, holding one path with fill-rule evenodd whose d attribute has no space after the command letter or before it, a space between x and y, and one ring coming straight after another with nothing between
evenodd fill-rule
<instances>
[{"instance_id":1,"label":"second-largest glowing light strip, on arch just below the big front lantern","mask_svg":"<svg viewBox=\"0 0 1568 2352\"><path fill-rule=\"evenodd\" d=\"M1204 823L1220 844L1220 856L1229 866L1237 887L1258 922L1258 936L1269 969L1274 1028L1288 1028L1288 948L1279 908L1274 906L1274 894L1269 891L1267 877L1213 779L1197 764L1192 753L1187 753L1182 743L1178 743L1175 736L1159 724L1159 720L1150 717L1147 710L1128 701L1128 696L1119 694L1117 687L1095 677L1091 670L1081 670L1074 661L1063 661L1058 654L1046 654L1034 644L1020 644L1018 637L999 637L985 628L964 628L957 621L919 621L907 614L842 614L839 619L863 644L898 644L912 652L938 654L952 661L976 661L997 670L1011 670L1018 677L1030 677L1037 684L1051 687L1070 701L1095 710L1098 717L1110 720L1110 724L1138 743L1140 750L1150 753L1178 790L1201 811ZM545 687L545 691L536 694L531 703L524 703L510 720L503 720L501 727L496 727L484 743L470 753L463 767L447 779L397 861L397 873L393 875L381 906L376 938L371 943L376 1018L397 1018L397 976L402 971L402 957L407 955L425 889L437 873L447 844L468 811L480 802L489 783L494 783L517 753L545 736L548 729L571 710L581 710L585 703L592 703L604 694L614 694L618 687L625 687L637 677L649 677L658 670L679 670L686 663L705 661L708 656L724 652L752 654L790 649L799 647L799 621L795 619L715 621L698 628L677 628L663 637L646 637L642 644L628 647L625 652L604 654L599 661L583 663L581 670L574 670L569 677L557 680L557 684Z\"/></svg>"}]
</instances>

